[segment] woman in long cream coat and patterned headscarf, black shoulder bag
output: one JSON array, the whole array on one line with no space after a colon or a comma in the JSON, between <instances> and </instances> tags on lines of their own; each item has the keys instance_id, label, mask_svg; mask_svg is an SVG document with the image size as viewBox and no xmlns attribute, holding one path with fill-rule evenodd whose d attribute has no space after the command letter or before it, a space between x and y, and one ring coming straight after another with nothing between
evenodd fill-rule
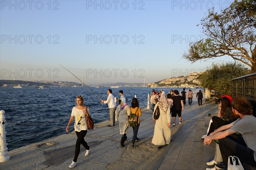
<instances>
[{"instance_id":1,"label":"woman in long cream coat and patterned headscarf, black shoulder bag","mask_svg":"<svg viewBox=\"0 0 256 170\"><path fill-rule=\"evenodd\" d=\"M169 144L172 140L171 136L171 115L170 115L170 107L165 94L163 94L155 105L154 110L159 107L160 116L156 120L153 118L153 122L155 122L154 127L154 136L152 139L152 143L158 146L160 149L163 145ZM154 112L153 112L154 113Z\"/></svg>"}]
</instances>

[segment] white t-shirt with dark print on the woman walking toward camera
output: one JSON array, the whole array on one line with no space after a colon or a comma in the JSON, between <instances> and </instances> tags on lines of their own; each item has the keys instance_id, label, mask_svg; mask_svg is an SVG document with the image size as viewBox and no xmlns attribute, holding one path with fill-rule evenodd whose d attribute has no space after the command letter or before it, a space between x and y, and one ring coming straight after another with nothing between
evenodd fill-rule
<instances>
[{"instance_id":1,"label":"white t-shirt with dark print on the woman walking toward camera","mask_svg":"<svg viewBox=\"0 0 256 170\"><path fill-rule=\"evenodd\" d=\"M76 108L76 106L73 107L72 112L71 112L71 116L75 116L75 130L77 132L80 132L81 130L88 130L86 121L85 121L85 114L83 110L79 110L78 108ZM90 115L90 109L87 108L87 113L89 113Z\"/></svg>"}]
</instances>

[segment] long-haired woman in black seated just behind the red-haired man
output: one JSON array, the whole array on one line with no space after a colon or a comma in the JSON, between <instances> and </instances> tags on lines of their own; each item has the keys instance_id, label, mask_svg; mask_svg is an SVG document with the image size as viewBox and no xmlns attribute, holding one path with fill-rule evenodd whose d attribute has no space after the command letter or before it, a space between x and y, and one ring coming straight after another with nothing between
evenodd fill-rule
<instances>
[{"instance_id":1,"label":"long-haired woman in black seated just behind the red-haired man","mask_svg":"<svg viewBox=\"0 0 256 170\"><path fill-rule=\"evenodd\" d=\"M227 97L222 97L220 99L219 110L220 112L218 116L212 116L212 123L207 136L209 136L215 129L235 121L232 113L232 106Z\"/></svg>"}]
</instances>

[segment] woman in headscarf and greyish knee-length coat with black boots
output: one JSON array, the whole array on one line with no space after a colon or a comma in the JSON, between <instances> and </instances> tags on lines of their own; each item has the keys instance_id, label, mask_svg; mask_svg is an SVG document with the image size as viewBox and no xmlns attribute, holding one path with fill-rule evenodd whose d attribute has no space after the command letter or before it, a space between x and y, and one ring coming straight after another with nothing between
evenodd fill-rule
<instances>
[{"instance_id":1,"label":"woman in headscarf and greyish knee-length coat with black boots","mask_svg":"<svg viewBox=\"0 0 256 170\"><path fill-rule=\"evenodd\" d=\"M120 134L122 135L121 138L121 146L125 147L125 140L127 139L127 131L128 131L128 125L129 125L129 117L131 114L131 109L127 105L127 99L124 97L121 99L120 105L116 108L116 114L118 115L118 121L119 121L119 129Z\"/></svg>"}]
</instances>

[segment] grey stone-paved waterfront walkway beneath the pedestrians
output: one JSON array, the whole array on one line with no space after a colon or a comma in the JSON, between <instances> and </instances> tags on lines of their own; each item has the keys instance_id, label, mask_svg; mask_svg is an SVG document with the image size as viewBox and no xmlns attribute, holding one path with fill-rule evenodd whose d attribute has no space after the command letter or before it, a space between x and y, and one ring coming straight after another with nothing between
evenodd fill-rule
<instances>
[{"instance_id":1,"label":"grey stone-paved waterfront walkway beneath the pedestrians","mask_svg":"<svg viewBox=\"0 0 256 170\"><path fill-rule=\"evenodd\" d=\"M88 131L85 140L91 147L89 156L84 156L81 146L78 165L74 169L117 170L117 169L174 169L204 170L205 162L212 154L205 157L201 136L205 133L205 116L217 113L214 101L198 106L185 106L182 124L171 126L173 140L169 145L157 149L151 144L154 134L152 111L143 109L136 147L131 147L132 128L128 129L126 147L120 147L119 125L106 127L108 121L98 123ZM7 139L8 142L8 139ZM11 159L0 163L1 170L67 170L73 160L76 143L74 132L58 136L46 142L39 142L9 151ZM210 150L212 152L212 150Z\"/></svg>"}]
</instances>

